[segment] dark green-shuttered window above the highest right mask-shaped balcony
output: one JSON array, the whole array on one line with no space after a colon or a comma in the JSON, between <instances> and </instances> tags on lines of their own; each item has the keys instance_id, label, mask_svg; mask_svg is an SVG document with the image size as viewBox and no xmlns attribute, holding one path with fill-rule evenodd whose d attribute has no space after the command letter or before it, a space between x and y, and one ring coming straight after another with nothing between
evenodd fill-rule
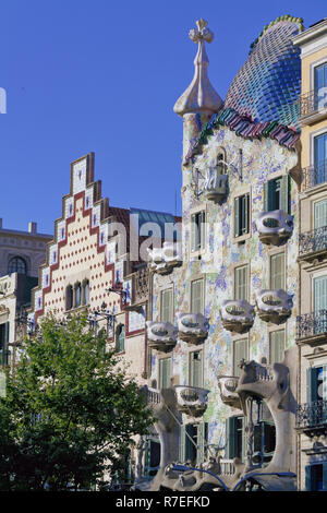
<instances>
[{"instance_id":1,"label":"dark green-shuttered window above the highest right mask-shaped balcony","mask_svg":"<svg viewBox=\"0 0 327 513\"><path fill-rule=\"evenodd\" d=\"M269 180L264 186L264 210L265 212L283 211L290 213L291 182L289 176Z\"/></svg>"}]
</instances>

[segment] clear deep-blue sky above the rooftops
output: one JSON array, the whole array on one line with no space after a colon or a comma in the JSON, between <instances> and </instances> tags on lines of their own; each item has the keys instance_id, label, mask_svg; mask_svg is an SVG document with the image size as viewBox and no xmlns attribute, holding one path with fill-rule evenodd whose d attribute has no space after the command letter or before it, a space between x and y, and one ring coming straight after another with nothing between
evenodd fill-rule
<instances>
[{"instance_id":1,"label":"clear deep-blue sky above the rooftops","mask_svg":"<svg viewBox=\"0 0 327 513\"><path fill-rule=\"evenodd\" d=\"M324 9L325 8L325 9ZM282 14L310 24L326 0L2 0L0 217L52 232L70 163L93 151L113 206L181 211L182 120L195 20L208 20L209 76L223 98L264 25Z\"/></svg>"}]
</instances>

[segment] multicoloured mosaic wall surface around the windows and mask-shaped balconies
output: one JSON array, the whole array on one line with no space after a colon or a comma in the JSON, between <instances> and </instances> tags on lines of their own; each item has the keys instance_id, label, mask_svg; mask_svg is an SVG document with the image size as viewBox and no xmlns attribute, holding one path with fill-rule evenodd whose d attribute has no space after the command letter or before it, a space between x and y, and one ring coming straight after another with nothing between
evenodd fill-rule
<instances>
[{"instance_id":1,"label":"multicoloured mosaic wall surface around the windows and mask-shaped balconies","mask_svg":"<svg viewBox=\"0 0 327 513\"><path fill-rule=\"evenodd\" d=\"M209 166L217 159L219 148L226 153L226 162L233 163L228 175L229 192L222 204L197 200L194 194L194 171L197 169L205 176ZM240 169L240 150L242 150L242 169ZM276 247L264 246L256 231L255 218L264 211L264 183L267 179L274 179L295 166L298 156L276 141L269 139L244 140L238 136L229 128L216 129L208 138L208 144L203 147L203 153L195 157L193 168L191 164L183 167L183 248L184 263L175 269L172 275L154 278L154 305L153 319L159 320L160 290L165 287L173 287L174 314L190 311L190 283L193 278L205 279L205 315L209 320L209 336L204 344L192 346L192 350L204 350L204 387L210 390L209 405L204 420L209 422L209 443L218 444L225 434L225 419L235 410L221 403L217 377L218 374L232 375L232 345L233 339L246 338L245 335L234 336L222 327L219 308L225 299L233 299L233 274L235 264L249 263L251 269L250 302L255 303L255 295L268 285L268 262ZM192 175L193 169L193 175ZM242 179L239 174L242 174ZM287 323L276 329L286 329L286 347L295 344L295 315L298 312L298 284L296 284L296 255L298 255L298 190L295 183L291 183L291 214L294 216L294 231L286 246L279 251L286 252L286 289L293 294L294 308L292 317ZM199 178L198 191L202 181ZM243 192L251 193L251 232L245 237L244 243L239 244L233 239L233 199ZM193 210L206 211L208 225L206 232L206 253L202 259L192 259L190 253L190 223ZM259 360L268 357L268 330L274 325L255 318L253 327L249 334L249 357ZM174 383L187 384L187 350L191 346L178 341L171 356L173 360ZM153 356L153 380L158 380L158 354ZM161 355L162 356L162 355ZM168 356L168 355L167 355ZM221 443L221 440L220 440Z\"/></svg>"}]
</instances>

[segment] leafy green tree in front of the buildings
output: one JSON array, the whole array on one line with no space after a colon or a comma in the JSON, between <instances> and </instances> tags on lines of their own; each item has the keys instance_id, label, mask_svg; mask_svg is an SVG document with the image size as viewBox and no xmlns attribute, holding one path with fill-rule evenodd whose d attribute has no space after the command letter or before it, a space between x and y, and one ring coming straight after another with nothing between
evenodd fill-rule
<instances>
[{"instance_id":1,"label":"leafy green tree in front of the buildings","mask_svg":"<svg viewBox=\"0 0 327 513\"><path fill-rule=\"evenodd\" d=\"M0 397L0 490L101 486L153 422L106 335L45 318Z\"/></svg>"}]
</instances>

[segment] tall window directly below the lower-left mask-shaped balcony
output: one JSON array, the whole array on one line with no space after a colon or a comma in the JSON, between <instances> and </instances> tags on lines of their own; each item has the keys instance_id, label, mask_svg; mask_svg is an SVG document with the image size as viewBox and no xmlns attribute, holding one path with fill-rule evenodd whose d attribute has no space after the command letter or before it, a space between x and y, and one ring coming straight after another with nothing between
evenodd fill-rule
<instances>
[{"instance_id":1,"label":"tall window directly below the lower-left mask-shaped balcony","mask_svg":"<svg viewBox=\"0 0 327 513\"><path fill-rule=\"evenodd\" d=\"M181 426L180 461L199 465L206 460L208 423L187 423Z\"/></svg>"}]
</instances>

